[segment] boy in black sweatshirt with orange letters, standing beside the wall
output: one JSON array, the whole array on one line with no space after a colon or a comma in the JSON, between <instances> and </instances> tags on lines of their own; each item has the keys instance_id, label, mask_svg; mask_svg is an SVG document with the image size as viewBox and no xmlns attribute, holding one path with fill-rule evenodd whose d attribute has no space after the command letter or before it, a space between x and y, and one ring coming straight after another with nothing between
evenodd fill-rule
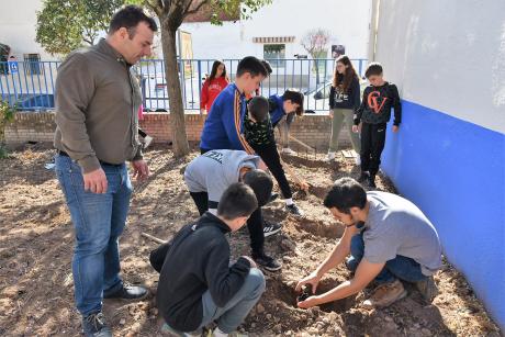
<instances>
[{"instance_id":1,"label":"boy in black sweatshirt with orange letters, standing beside the wall","mask_svg":"<svg viewBox=\"0 0 505 337\"><path fill-rule=\"evenodd\" d=\"M363 100L355 114L352 132L357 133L361 123L361 176L358 181L368 180L369 187L375 188L391 108L394 109L393 132L397 132L402 122L402 103L396 86L382 78L380 64L371 63L364 76L370 86L364 89Z\"/></svg>"}]
</instances>

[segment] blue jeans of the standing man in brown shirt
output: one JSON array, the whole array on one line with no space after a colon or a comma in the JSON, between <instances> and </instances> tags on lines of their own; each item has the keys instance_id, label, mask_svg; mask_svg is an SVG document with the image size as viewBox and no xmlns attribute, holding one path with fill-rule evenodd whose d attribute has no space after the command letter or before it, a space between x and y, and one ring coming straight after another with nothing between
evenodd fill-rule
<instances>
[{"instance_id":1,"label":"blue jeans of the standing man in brown shirt","mask_svg":"<svg viewBox=\"0 0 505 337\"><path fill-rule=\"evenodd\" d=\"M106 193L85 191L81 168L66 156L56 156L56 176L75 228L72 274L76 306L87 316L101 311L103 292L123 287L117 238L123 233L133 188L126 165L102 165Z\"/></svg>"}]
</instances>

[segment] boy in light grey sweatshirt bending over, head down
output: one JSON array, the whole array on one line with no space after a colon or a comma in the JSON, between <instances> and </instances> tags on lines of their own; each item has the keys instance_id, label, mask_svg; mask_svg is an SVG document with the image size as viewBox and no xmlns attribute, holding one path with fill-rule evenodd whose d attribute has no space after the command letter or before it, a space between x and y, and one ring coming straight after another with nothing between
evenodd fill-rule
<instances>
[{"instance_id":1,"label":"boy in light grey sweatshirt bending over, head down","mask_svg":"<svg viewBox=\"0 0 505 337\"><path fill-rule=\"evenodd\" d=\"M252 259L266 270L276 271L281 265L265 254L265 236L278 233L280 226L263 233L261 206L268 203L273 183L269 175L257 169L259 162L258 156L242 150L210 150L188 165L184 181L200 215L207 210L216 214L218 200L232 183L242 181L250 186L258 200L258 209L247 221Z\"/></svg>"}]
</instances>

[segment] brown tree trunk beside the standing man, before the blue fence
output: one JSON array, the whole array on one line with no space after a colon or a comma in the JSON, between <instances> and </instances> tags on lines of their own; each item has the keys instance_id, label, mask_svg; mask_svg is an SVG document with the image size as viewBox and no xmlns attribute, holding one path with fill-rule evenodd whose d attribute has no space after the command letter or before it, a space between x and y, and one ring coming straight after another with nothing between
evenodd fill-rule
<instances>
[{"instance_id":1,"label":"brown tree trunk beside the standing man, before the blue fence","mask_svg":"<svg viewBox=\"0 0 505 337\"><path fill-rule=\"evenodd\" d=\"M177 71L176 32L170 31L168 20L160 20L161 45L165 60L165 80L167 82L168 101L170 103L170 126L172 130L173 156L183 157L189 154L188 137L186 135L184 106L179 72ZM183 70L183 69L181 69Z\"/></svg>"}]
</instances>

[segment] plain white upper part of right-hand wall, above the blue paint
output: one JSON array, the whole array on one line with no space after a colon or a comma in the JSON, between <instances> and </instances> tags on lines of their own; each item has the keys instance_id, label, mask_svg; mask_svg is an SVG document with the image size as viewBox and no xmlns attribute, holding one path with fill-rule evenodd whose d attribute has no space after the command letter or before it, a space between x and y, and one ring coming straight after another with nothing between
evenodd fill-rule
<instances>
[{"instance_id":1,"label":"plain white upper part of right-hand wall, above the blue paint","mask_svg":"<svg viewBox=\"0 0 505 337\"><path fill-rule=\"evenodd\" d=\"M505 133L505 1L380 1L375 58L403 99Z\"/></svg>"}]
</instances>

